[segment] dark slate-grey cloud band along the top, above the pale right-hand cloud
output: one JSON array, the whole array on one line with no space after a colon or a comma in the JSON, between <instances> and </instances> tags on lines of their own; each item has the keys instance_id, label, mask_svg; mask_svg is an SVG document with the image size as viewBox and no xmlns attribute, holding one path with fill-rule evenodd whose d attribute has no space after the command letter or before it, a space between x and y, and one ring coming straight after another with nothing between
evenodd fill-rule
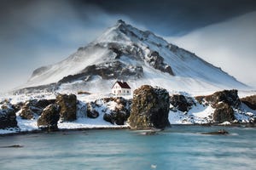
<instances>
[{"instance_id":1,"label":"dark slate-grey cloud band along the top, above the pale right-hand cloud","mask_svg":"<svg viewBox=\"0 0 256 170\"><path fill-rule=\"evenodd\" d=\"M73 6L83 9L88 4L109 14L125 14L151 31L165 35L183 35L256 10L254 0L80 0Z\"/></svg>"}]
</instances>

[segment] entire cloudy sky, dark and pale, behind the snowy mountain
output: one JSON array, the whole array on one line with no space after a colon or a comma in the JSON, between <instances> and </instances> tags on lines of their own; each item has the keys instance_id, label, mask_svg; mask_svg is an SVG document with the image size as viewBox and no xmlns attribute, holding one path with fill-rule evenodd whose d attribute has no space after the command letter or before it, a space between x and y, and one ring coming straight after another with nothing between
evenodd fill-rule
<instances>
[{"instance_id":1,"label":"entire cloudy sky, dark and pale, behind the snowy mountain","mask_svg":"<svg viewBox=\"0 0 256 170\"><path fill-rule=\"evenodd\" d=\"M0 92L125 20L256 85L254 0L0 0Z\"/></svg>"}]
</instances>

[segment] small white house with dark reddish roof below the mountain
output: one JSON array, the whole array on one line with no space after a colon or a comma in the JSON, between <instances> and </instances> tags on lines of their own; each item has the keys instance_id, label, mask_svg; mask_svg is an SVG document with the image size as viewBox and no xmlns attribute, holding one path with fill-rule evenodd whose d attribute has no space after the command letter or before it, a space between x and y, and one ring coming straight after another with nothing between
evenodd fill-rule
<instances>
[{"instance_id":1,"label":"small white house with dark reddish roof below the mountain","mask_svg":"<svg viewBox=\"0 0 256 170\"><path fill-rule=\"evenodd\" d=\"M112 94L115 95L130 95L131 94L131 88L128 85L127 82L114 82L112 87Z\"/></svg>"}]
</instances>

